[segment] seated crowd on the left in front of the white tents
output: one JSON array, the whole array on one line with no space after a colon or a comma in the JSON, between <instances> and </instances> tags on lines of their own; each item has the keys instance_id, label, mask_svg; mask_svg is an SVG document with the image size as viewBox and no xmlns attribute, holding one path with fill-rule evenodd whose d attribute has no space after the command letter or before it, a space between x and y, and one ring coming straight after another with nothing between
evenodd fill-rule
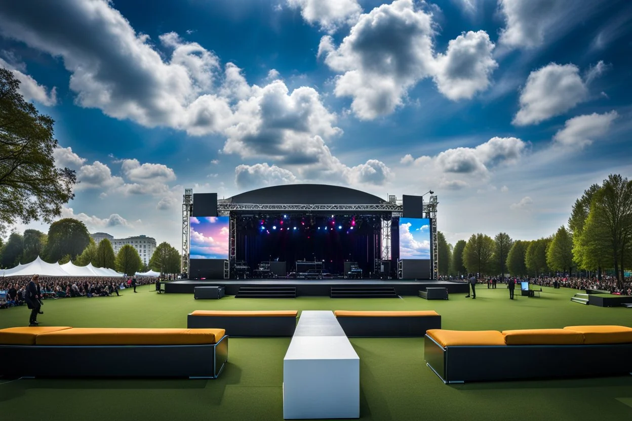
<instances>
[{"instance_id":1,"label":"seated crowd on the left in front of the white tents","mask_svg":"<svg viewBox=\"0 0 632 421\"><path fill-rule=\"evenodd\" d=\"M25 304L24 295L30 276L6 277L0 280L0 291L6 291L6 304L0 308ZM116 294L118 290L130 288L130 277L92 277L79 278L69 276L40 276L40 289L44 299L58 299L68 297L106 297ZM138 277L136 285L155 283L155 278Z\"/></svg>"}]
</instances>

